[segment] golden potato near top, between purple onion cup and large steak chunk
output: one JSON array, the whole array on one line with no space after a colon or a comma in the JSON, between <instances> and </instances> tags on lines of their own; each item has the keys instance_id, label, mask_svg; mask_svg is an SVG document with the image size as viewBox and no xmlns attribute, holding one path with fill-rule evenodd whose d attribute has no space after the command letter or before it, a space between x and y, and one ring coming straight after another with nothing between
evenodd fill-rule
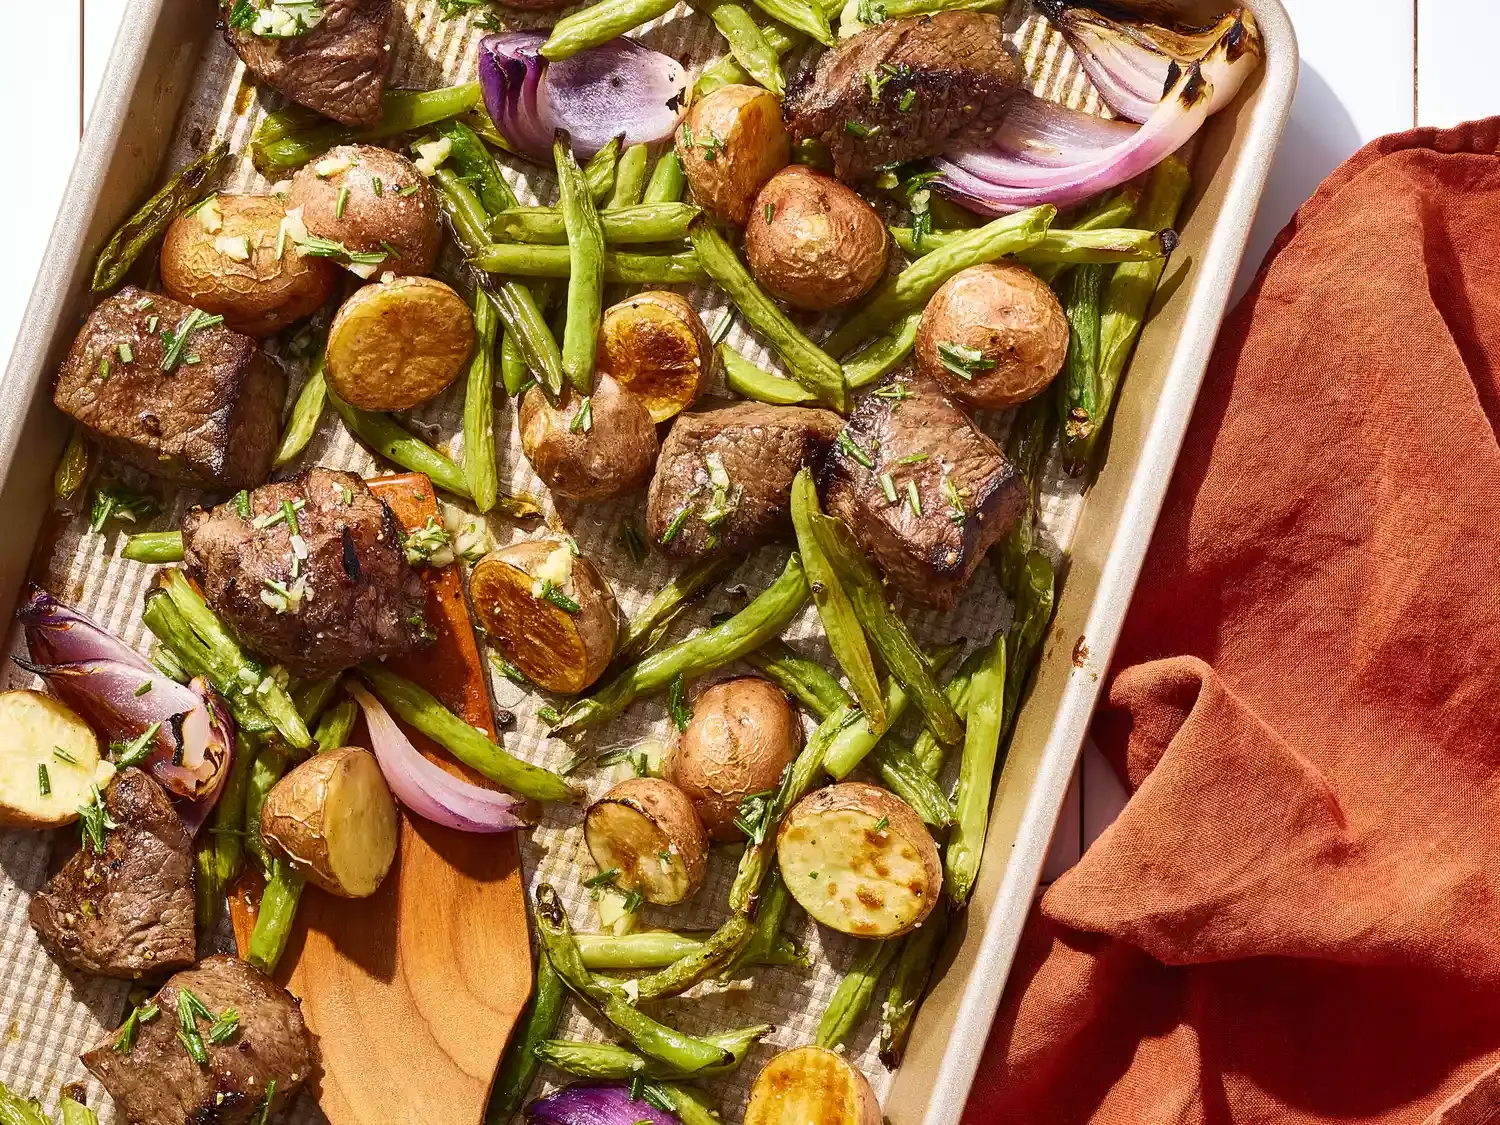
<instances>
[{"instance_id":1,"label":"golden potato near top, between purple onion cup and large steak chunk","mask_svg":"<svg viewBox=\"0 0 1500 1125\"><path fill-rule=\"evenodd\" d=\"M744 226L756 192L792 159L782 104L759 86L722 86L687 111L676 156L698 206Z\"/></svg>"}]
</instances>

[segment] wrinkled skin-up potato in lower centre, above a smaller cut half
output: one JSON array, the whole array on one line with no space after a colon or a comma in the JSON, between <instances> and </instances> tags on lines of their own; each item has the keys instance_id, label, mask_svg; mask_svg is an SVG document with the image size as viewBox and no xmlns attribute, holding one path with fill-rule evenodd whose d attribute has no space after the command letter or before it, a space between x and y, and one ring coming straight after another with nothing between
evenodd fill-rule
<instances>
[{"instance_id":1,"label":"wrinkled skin-up potato in lower centre, above a smaller cut half","mask_svg":"<svg viewBox=\"0 0 1500 1125\"><path fill-rule=\"evenodd\" d=\"M724 680L693 702L693 718L663 764L714 840L742 840L740 801L776 789L802 747L786 693L759 676Z\"/></svg>"}]
</instances>

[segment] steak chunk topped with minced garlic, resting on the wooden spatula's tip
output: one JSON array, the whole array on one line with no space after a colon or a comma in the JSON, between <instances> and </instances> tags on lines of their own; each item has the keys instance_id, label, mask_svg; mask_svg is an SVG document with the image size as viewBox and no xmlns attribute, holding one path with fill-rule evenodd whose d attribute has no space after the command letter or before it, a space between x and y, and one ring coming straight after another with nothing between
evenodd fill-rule
<instances>
[{"instance_id":1,"label":"steak chunk topped with minced garlic, resting on the wooden spatula's tip","mask_svg":"<svg viewBox=\"0 0 1500 1125\"><path fill-rule=\"evenodd\" d=\"M280 516L297 514L297 542ZM260 656L324 676L410 652L426 632L422 576L396 516L352 472L310 468L262 484L249 516L231 500L183 516L188 573Z\"/></svg>"}]
</instances>

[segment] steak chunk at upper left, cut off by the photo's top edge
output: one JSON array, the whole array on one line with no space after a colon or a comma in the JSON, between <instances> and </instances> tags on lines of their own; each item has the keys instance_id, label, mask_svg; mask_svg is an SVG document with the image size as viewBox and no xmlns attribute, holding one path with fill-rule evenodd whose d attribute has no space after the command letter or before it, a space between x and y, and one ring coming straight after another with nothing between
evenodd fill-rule
<instances>
[{"instance_id":1,"label":"steak chunk at upper left, cut off by the photo's top edge","mask_svg":"<svg viewBox=\"0 0 1500 1125\"><path fill-rule=\"evenodd\" d=\"M390 60L390 0L324 0L322 21L310 32L273 39L236 27L244 8L266 0L224 0L224 38L244 60L250 78L344 124L380 120L380 96Z\"/></svg>"}]
</instances>

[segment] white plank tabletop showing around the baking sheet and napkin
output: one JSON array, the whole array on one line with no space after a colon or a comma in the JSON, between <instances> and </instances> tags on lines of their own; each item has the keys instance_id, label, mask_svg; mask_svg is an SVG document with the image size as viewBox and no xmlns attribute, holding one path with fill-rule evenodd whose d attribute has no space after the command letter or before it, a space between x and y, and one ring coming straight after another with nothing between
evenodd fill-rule
<instances>
[{"instance_id":1,"label":"white plank tabletop showing around the baking sheet and napkin","mask_svg":"<svg viewBox=\"0 0 1500 1125\"><path fill-rule=\"evenodd\" d=\"M207 3L208 0L204 0ZM1500 112L1492 44L1500 0L1282 0L1302 46L1292 122L1251 236L1244 291L1276 231L1365 141L1413 124ZM126 0L3 0L0 38L0 370L46 246ZM1072 866L1124 792L1090 748L1074 778L1046 876Z\"/></svg>"}]
</instances>

